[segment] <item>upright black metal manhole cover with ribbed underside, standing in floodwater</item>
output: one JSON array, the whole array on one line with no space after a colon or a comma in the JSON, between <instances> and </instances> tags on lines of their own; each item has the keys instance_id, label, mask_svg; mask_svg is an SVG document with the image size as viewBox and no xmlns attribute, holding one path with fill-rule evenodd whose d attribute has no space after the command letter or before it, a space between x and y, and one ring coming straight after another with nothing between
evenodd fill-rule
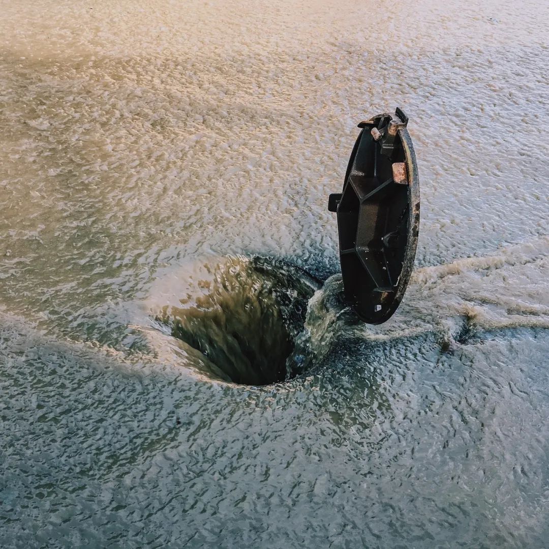
<instances>
[{"instance_id":1,"label":"upright black metal manhole cover with ribbed underside, standing in floodwater","mask_svg":"<svg viewBox=\"0 0 549 549\"><path fill-rule=\"evenodd\" d=\"M395 312L416 256L419 179L407 124L398 108L358 124L343 192L328 202L338 218L344 301L369 324Z\"/></svg>"}]
</instances>

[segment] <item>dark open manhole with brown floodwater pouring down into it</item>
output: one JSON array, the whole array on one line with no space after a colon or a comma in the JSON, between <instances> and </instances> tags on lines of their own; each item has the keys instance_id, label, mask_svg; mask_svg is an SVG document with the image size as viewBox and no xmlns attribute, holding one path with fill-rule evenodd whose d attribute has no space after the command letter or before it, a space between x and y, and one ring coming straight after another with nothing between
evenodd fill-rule
<instances>
[{"instance_id":1,"label":"dark open manhole with brown floodwater pouring down into it","mask_svg":"<svg viewBox=\"0 0 549 549\"><path fill-rule=\"evenodd\" d=\"M243 385L268 385L300 373L293 356L307 302L320 284L281 260L231 258L208 293L160 320L200 351L210 374Z\"/></svg>"}]
</instances>

